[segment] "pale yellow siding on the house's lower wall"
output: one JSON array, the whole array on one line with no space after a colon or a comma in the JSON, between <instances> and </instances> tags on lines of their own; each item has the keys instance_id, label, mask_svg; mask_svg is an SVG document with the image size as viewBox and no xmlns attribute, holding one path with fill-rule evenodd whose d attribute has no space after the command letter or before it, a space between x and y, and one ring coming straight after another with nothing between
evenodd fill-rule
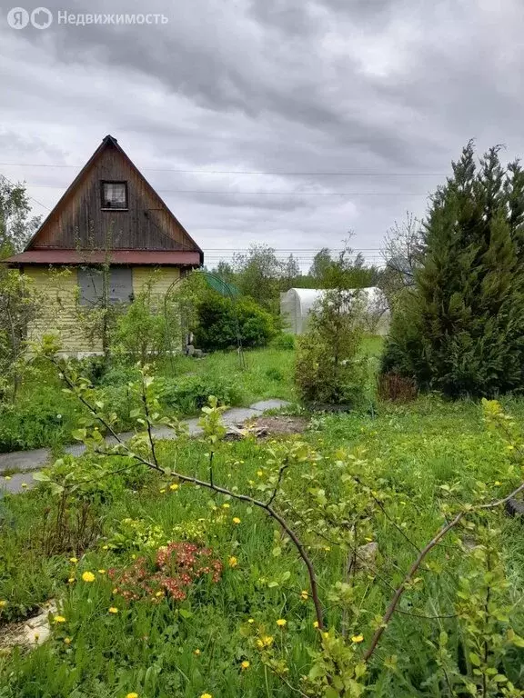
<instances>
[{"instance_id":1,"label":"pale yellow siding on the house's lower wall","mask_svg":"<svg viewBox=\"0 0 524 698\"><path fill-rule=\"evenodd\" d=\"M56 334L62 353L69 355L99 354L100 342L90 342L79 328L76 316L76 294L78 277L76 268L48 269L26 265L22 270L33 279L35 289L48 299L40 317L29 327L28 339L38 342L44 334ZM133 293L140 293L144 284L153 278L153 293L164 296L170 286L180 278L180 269L151 266L133 267Z\"/></svg>"}]
</instances>

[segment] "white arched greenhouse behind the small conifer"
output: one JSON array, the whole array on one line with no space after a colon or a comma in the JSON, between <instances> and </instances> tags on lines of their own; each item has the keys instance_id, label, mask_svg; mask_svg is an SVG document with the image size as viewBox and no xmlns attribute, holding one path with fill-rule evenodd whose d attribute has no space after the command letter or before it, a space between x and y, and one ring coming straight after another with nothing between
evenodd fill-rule
<instances>
[{"instance_id":1,"label":"white arched greenhouse behind the small conifer","mask_svg":"<svg viewBox=\"0 0 524 698\"><path fill-rule=\"evenodd\" d=\"M360 289L364 295L364 322L369 334L388 334L389 309L384 292L377 286ZM280 314L285 332L303 334L307 329L307 317L314 305L322 298L323 289L290 288L280 294Z\"/></svg>"}]
</instances>

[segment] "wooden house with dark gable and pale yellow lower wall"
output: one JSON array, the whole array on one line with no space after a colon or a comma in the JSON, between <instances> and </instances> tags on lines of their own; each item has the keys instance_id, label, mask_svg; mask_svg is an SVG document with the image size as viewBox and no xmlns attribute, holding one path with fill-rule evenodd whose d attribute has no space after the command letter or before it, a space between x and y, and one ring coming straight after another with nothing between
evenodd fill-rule
<instances>
[{"instance_id":1,"label":"wooden house with dark gable and pale yellow lower wall","mask_svg":"<svg viewBox=\"0 0 524 698\"><path fill-rule=\"evenodd\" d=\"M49 296L30 339L59 334L66 354L82 355L101 351L79 330L76 314L78 304L96 304L94 269L106 270L110 303L132 303L152 277L155 293L166 294L203 264L204 254L116 138L106 135L24 252L5 262Z\"/></svg>"}]
</instances>

